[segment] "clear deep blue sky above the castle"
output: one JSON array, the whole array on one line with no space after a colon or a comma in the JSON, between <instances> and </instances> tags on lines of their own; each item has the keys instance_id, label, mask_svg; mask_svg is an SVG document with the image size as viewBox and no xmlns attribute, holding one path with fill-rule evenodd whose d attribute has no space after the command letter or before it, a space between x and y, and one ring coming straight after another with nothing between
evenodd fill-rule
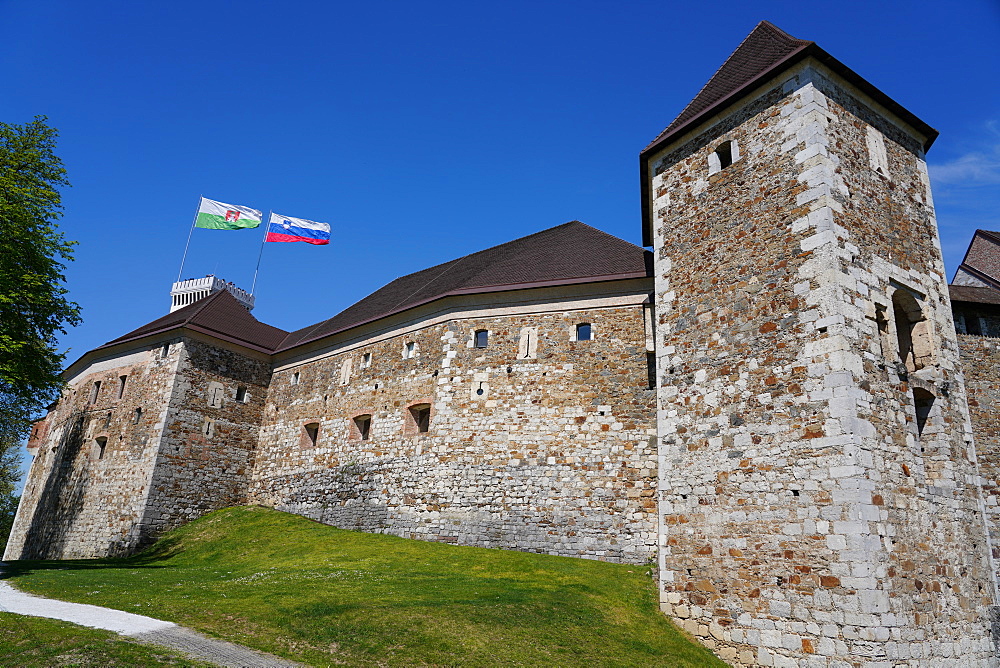
<instances>
[{"instance_id":1,"label":"clear deep blue sky above the castle","mask_svg":"<svg viewBox=\"0 0 1000 668\"><path fill-rule=\"evenodd\" d=\"M949 277L1000 229L1000 2L0 0L0 121L49 117L84 324L164 314L199 195L324 221L268 244L261 320L296 329L393 278L568 220L640 240L637 156L761 19L941 132ZM260 230L196 230L186 277L249 287Z\"/></svg>"}]
</instances>

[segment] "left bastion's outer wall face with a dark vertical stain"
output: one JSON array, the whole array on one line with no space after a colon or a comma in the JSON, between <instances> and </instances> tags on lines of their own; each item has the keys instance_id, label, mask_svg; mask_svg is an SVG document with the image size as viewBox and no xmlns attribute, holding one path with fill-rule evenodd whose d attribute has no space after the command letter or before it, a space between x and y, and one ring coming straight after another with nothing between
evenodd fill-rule
<instances>
[{"instance_id":1,"label":"left bastion's outer wall face with a dark vertical stain","mask_svg":"<svg viewBox=\"0 0 1000 668\"><path fill-rule=\"evenodd\" d=\"M118 556L139 544L176 362L158 349L133 351L73 380L37 441L6 559Z\"/></svg>"}]
</instances>

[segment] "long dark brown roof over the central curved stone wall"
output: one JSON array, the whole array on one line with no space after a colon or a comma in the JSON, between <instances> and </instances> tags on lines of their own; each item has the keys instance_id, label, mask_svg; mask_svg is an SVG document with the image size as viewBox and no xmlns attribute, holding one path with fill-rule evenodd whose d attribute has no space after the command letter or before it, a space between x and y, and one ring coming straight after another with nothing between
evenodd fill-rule
<instances>
[{"instance_id":1,"label":"long dark brown roof over the central curved stone wall","mask_svg":"<svg viewBox=\"0 0 1000 668\"><path fill-rule=\"evenodd\" d=\"M651 257L649 251L572 221L397 278L332 318L292 332L278 350L451 295L651 276Z\"/></svg>"}]
</instances>

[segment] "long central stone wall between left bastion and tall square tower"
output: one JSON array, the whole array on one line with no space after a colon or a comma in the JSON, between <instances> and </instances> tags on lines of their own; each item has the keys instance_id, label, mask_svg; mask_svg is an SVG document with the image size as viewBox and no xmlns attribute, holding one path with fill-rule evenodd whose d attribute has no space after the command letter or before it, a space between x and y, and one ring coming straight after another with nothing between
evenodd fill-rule
<instances>
[{"instance_id":1,"label":"long central stone wall between left bastion and tall square tower","mask_svg":"<svg viewBox=\"0 0 1000 668\"><path fill-rule=\"evenodd\" d=\"M578 323L593 340L573 340ZM486 348L473 347L477 330ZM282 369L250 500L344 528L646 562L656 463L645 351L636 305L452 320ZM431 406L426 433L415 404ZM353 420L364 414L367 440Z\"/></svg>"}]
</instances>

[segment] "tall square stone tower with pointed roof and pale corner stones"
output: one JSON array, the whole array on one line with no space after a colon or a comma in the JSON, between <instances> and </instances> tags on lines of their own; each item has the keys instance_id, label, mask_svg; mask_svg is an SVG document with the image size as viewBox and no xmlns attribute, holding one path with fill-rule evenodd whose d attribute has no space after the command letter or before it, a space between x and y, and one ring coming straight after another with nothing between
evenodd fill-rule
<instances>
[{"instance_id":1,"label":"tall square stone tower with pointed roof and pale corner stones","mask_svg":"<svg viewBox=\"0 0 1000 668\"><path fill-rule=\"evenodd\" d=\"M734 665L995 665L936 134L764 22L640 156L662 607Z\"/></svg>"}]
</instances>

